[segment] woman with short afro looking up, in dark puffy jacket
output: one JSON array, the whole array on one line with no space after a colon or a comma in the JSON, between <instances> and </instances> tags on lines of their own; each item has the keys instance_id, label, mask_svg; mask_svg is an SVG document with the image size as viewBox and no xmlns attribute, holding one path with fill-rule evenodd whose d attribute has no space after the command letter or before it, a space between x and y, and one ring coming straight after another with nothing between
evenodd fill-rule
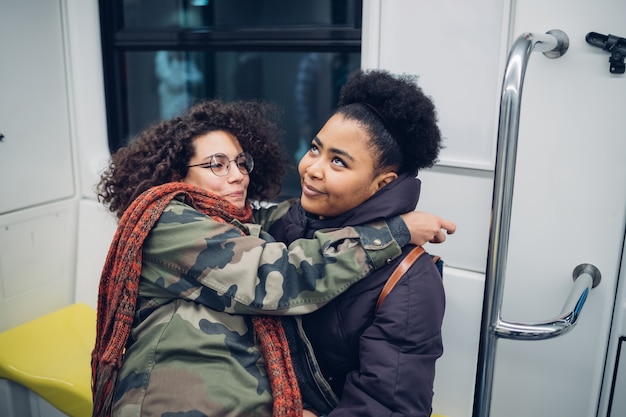
<instances>
[{"instance_id":1,"label":"woman with short afro looking up, in dark puffy jacket","mask_svg":"<svg viewBox=\"0 0 626 417\"><path fill-rule=\"evenodd\" d=\"M435 106L413 77L356 73L300 160L300 202L270 233L290 244L415 209L418 171L437 161L441 141ZM379 299L412 249L319 310L284 318L308 415L431 415L435 362L443 353L442 265L419 256Z\"/></svg>"}]
</instances>

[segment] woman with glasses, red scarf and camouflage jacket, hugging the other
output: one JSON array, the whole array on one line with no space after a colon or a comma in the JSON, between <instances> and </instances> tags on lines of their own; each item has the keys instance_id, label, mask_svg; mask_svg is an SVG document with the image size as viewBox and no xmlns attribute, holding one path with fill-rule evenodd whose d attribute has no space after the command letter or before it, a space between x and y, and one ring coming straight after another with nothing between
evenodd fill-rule
<instances>
[{"instance_id":1,"label":"woman with glasses, red scarf and camouflage jacket, hugging the other","mask_svg":"<svg viewBox=\"0 0 626 417\"><path fill-rule=\"evenodd\" d=\"M438 238L437 219L429 230L409 213L275 242L254 222L269 227L289 202L257 217L249 202L280 190L275 116L205 101L112 155L98 186L119 223L99 285L94 416L301 416L281 321L233 313L309 313L409 241Z\"/></svg>"}]
</instances>

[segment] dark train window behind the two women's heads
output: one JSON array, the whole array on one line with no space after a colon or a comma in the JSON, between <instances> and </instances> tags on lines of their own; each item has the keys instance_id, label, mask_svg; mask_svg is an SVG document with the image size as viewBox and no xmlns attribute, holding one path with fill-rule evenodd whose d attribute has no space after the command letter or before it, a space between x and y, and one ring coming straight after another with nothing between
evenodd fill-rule
<instances>
[{"instance_id":1,"label":"dark train window behind the two women's heads","mask_svg":"<svg viewBox=\"0 0 626 417\"><path fill-rule=\"evenodd\" d=\"M360 67L362 0L100 0L111 152L194 100L285 112L296 161ZM283 187L299 195L294 174Z\"/></svg>"}]
</instances>

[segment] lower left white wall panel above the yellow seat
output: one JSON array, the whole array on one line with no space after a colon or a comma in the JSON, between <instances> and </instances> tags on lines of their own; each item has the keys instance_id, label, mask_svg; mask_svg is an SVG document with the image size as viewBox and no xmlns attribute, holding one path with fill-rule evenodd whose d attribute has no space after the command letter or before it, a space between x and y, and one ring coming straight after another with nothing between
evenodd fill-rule
<instances>
[{"instance_id":1,"label":"lower left white wall panel above the yellow seat","mask_svg":"<svg viewBox=\"0 0 626 417\"><path fill-rule=\"evenodd\" d=\"M72 302L76 215L70 200L0 216L0 331Z\"/></svg>"}]
</instances>

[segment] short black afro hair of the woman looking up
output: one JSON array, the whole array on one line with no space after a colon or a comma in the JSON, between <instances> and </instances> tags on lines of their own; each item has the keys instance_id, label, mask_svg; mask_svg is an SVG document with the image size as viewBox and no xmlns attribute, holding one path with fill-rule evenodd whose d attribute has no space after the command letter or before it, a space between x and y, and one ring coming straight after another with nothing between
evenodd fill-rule
<instances>
[{"instance_id":1,"label":"short black afro hair of the woman looking up","mask_svg":"<svg viewBox=\"0 0 626 417\"><path fill-rule=\"evenodd\" d=\"M399 174L433 166L442 148L432 100L417 77L384 70L359 71L343 86L336 114L360 123L371 136L376 171Z\"/></svg>"}]
</instances>

